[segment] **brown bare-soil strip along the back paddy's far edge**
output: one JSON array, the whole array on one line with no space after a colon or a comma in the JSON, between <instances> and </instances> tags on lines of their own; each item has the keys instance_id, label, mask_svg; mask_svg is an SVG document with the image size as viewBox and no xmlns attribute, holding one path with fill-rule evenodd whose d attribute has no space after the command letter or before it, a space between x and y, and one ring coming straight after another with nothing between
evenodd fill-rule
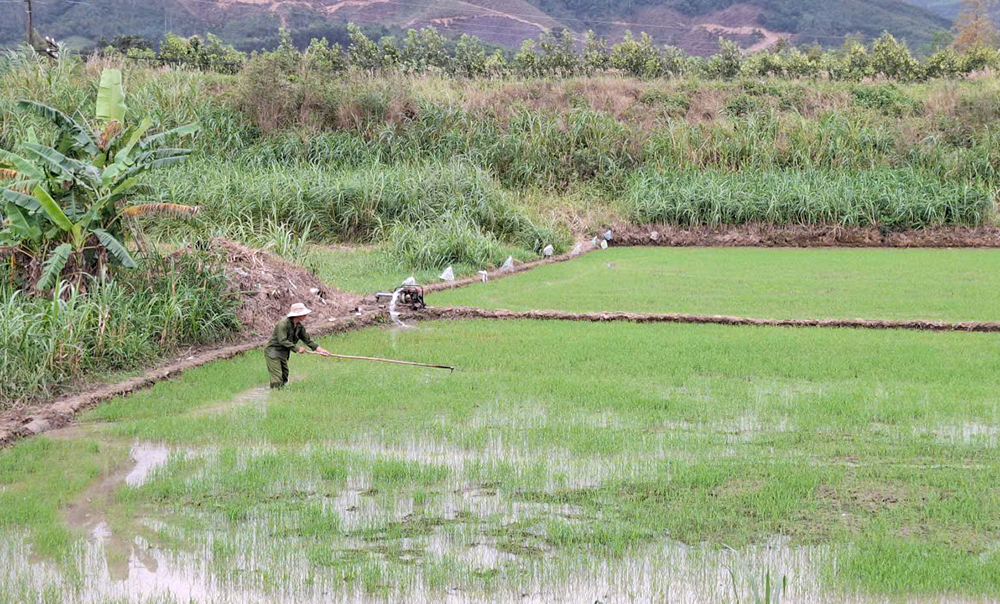
<instances>
[{"instance_id":1,"label":"brown bare-soil strip along the back paddy's far edge","mask_svg":"<svg viewBox=\"0 0 1000 604\"><path fill-rule=\"evenodd\" d=\"M656 233L654 239L653 233ZM1000 247L1000 227L930 227L883 233L841 226L618 226L610 245L664 247Z\"/></svg>"}]
</instances>

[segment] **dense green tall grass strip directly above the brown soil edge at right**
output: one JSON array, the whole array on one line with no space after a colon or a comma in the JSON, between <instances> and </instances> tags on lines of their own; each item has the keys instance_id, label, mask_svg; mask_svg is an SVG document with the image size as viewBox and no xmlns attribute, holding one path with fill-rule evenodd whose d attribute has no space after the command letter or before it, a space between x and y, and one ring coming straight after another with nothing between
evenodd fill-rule
<instances>
[{"instance_id":1,"label":"dense green tall grass strip directly above the brown soil edge at right","mask_svg":"<svg viewBox=\"0 0 1000 604\"><path fill-rule=\"evenodd\" d=\"M943 183L912 170L641 172L621 209L637 223L828 224L916 228L979 225L995 215L994 191Z\"/></svg>"}]
</instances>

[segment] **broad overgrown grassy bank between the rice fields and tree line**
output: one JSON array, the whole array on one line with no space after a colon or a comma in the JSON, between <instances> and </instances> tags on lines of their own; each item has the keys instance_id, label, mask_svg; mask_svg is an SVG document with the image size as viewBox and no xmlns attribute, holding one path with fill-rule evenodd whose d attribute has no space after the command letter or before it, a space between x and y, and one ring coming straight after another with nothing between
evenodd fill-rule
<instances>
[{"instance_id":1,"label":"broad overgrown grassy bank between the rice fields and tree line","mask_svg":"<svg viewBox=\"0 0 1000 604\"><path fill-rule=\"evenodd\" d=\"M743 187L757 191L756 203L765 204L780 183L791 182L779 218L837 222L836 212L810 203L812 192L876 203L868 197L898 189L906 195L889 200L894 211L865 216L895 229L989 222L1000 188L1000 164L992 152L1000 104L992 77L910 84L354 72L320 78L308 70L282 72L276 63L264 78L122 66L138 115L164 128L193 120L203 128L186 173L154 181L156 197L203 203L212 209L213 223L238 225L241 233L247 227L266 233L268 220L276 219L298 231L311 224L312 237L321 243L370 241L414 219L384 206L381 197L396 190L478 204L465 198L467 185L456 190L462 179L505 191L488 193L509 198L493 205L494 211L520 216L515 220L522 224L544 228L556 219L577 230L602 226L573 215L571 200L579 195L631 220L655 215L684 223L683 212L638 212L634 204L623 209L614 200L646 193L715 197L719 188ZM70 60L55 68L28 64L3 76L9 85L0 93L0 145L13 147L32 126L44 132L34 117L14 109L17 98L91 111L88 89L98 67ZM268 104L272 97L295 102ZM442 168L448 165L461 167ZM665 187L662 175L676 173L680 184ZM277 207L264 203L260 191ZM530 207L524 199L539 193L567 199L563 211L523 215ZM929 207L935 202L958 211ZM442 214L440 204L431 205ZM521 210L514 207L519 205ZM377 233L357 221L365 212L381 221ZM449 227L464 228L462 219L471 217L502 243L535 251L532 237L497 228L504 216L449 216L455 219ZM714 219L748 218L734 211ZM442 261L406 254L398 260Z\"/></svg>"}]
</instances>

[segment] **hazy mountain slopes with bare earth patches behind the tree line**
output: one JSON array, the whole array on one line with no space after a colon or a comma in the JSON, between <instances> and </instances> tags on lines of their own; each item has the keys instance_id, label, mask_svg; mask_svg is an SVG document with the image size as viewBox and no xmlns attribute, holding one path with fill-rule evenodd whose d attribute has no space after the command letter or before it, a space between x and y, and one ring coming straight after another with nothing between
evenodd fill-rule
<instances>
[{"instance_id":1,"label":"hazy mountain slopes with bare earth patches behind the tree line","mask_svg":"<svg viewBox=\"0 0 1000 604\"><path fill-rule=\"evenodd\" d=\"M211 31L242 49L273 46L277 30L342 38L348 21L388 33L434 26L516 47L546 29L588 29L610 39L646 31L658 42L692 54L711 54L719 36L760 49L781 38L840 45L847 34L866 39L889 31L919 50L951 20L924 4L949 0L45 0L35 3L36 30L84 48L102 37L139 34L152 40L167 31L188 36ZM0 19L0 45L23 38L20 3ZM945 14L945 13L942 13Z\"/></svg>"}]
</instances>

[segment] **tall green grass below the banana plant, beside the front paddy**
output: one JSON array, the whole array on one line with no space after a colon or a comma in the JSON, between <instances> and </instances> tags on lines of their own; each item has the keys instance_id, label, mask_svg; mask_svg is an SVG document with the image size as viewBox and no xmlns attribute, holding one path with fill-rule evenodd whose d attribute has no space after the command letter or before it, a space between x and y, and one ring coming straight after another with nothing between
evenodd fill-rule
<instances>
[{"instance_id":1,"label":"tall green grass below the banana plant, beside the front paddy","mask_svg":"<svg viewBox=\"0 0 1000 604\"><path fill-rule=\"evenodd\" d=\"M178 347L216 341L240 324L236 300L208 258L148 259L89 290L32 298L0 284L0 410L57 395L66 384L136 369Z\"/></svg>"}]
</instances>

